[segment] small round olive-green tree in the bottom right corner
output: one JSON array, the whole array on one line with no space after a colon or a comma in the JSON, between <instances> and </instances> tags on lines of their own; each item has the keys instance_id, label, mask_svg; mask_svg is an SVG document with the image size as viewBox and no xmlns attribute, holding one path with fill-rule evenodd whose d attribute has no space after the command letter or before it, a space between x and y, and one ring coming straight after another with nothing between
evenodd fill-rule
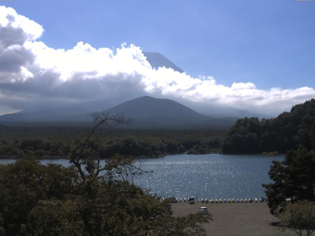
<instances>
[{"instance_id":1,"label":"small round olive-green tree in the bottom right corner","mask_svg":"<svg viewBox=\"0 0 315 236\"><path fill-rule=\"evenodd\" d=\"M289 203L279 215L280 229L291 230L299 236L311 236L315 231L315 203Z\"/></svg>"}]
</instances>

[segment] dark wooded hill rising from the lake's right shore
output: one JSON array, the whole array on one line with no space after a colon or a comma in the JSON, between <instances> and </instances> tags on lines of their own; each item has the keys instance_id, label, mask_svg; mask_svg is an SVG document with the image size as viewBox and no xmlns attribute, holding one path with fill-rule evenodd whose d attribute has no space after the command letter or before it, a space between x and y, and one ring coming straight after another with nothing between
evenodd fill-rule
<instances>
[{"instance_id":1,"label":"dark wooded hill rising from the lake's right shore","mask_svg":"<svg viewBox=\"0 0 315 236\"><path fill-rule=\"evenodd\" d=\"M315 139L315 99L292 107L277 118L239 119L224 135L223 153L285 152Z\"/></svg>"}]
</instances>

